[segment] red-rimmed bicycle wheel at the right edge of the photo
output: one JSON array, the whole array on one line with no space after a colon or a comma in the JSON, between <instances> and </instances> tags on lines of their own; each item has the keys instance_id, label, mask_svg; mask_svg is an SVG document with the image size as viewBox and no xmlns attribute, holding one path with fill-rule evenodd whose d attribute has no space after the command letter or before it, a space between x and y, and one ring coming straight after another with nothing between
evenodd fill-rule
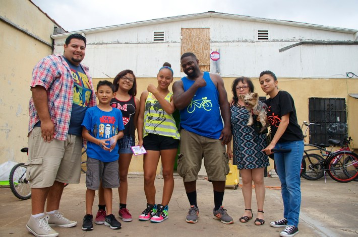
<instances>
[{"instance_id":1,"label":"red-rimmed bicycle wheel at the right edge of the photo","mask_svg":"<svg viewBox=\"0 0 358 237\"><path fill-rule=\"evenodd\" d=\"M347 183L358 177L358 155L351 151L339 151L330 155L326 164L328 175L335 181Z\"/></svg>"}]
</instances>

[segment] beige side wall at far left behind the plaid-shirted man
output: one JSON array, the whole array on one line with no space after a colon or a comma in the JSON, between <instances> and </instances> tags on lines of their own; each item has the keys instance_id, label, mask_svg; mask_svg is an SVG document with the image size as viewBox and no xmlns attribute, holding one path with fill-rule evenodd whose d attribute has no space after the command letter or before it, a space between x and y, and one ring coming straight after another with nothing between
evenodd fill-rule
<instances>
[{"instance_id":1,"label":"beige side wall at far left behind the plaid-shirted man","mask_svg":"<svg viewBox=\"0 0 358 237\"><path fill-rule=\"evenodd\" d=\"M0 16L0 164L20 163L27 160L20 149L28 143L32 69L52 53L55 24L28 0L2 0Z\"/></svg>"}]
</instances>

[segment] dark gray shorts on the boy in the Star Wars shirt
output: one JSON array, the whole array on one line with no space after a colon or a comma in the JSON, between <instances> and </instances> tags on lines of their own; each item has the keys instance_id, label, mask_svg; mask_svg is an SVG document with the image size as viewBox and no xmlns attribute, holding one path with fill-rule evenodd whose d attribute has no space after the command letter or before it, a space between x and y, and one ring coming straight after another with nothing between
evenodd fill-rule
<instances>
[{"instance_id":1,"label":"dark gray shorts on the boy in the Star Wars shirt","mask_svg":"<svg viewBox=\"0 0 358 237\"><path fill-rule=\"evenodd\" d=\"M86 187L98 190L101 182L103 188L112 189L120 187L118 161L102 162L87 157Z\"/></svg>"}]
</instances>

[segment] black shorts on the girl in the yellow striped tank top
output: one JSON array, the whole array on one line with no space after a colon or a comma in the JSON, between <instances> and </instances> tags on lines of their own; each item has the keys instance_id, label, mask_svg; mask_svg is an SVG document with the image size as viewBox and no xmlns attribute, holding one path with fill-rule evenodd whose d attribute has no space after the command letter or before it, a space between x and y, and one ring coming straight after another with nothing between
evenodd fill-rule
<instances>
[{"instance_id":1,"label":"black shorts on the girl in the yellow striped tank top","mask_svg":"<svg viewBox=\"0 0 358 237\"><path fill-rule=\"evenodd\" d=\"M179 141L180 140L169 136L149 133L143 138L143 146L146 150L177 149Z\"/></svg>"}]
</instances>

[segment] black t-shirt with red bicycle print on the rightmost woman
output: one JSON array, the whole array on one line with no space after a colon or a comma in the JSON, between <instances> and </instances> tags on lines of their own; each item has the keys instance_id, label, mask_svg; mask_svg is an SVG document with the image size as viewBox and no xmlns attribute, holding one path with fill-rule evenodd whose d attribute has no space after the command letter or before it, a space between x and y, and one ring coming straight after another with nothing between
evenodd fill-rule
<instances>
[{"instance_id":1,"label":"black t-shirt with red bicycle print on the rightmost woman","mask_svg":"<svg viewBox=\"0 0 358 237\"><path fill-rule=\"evenodd\" d=\"M280 125L283 115L289 113L289 123L278 142L303 140L302 130L297 123L297 114L292 96L285 91L279 91L274 98L264 103L268 106L267 118L271 126L272 137Z\"/></svg>"}]
</instances>

